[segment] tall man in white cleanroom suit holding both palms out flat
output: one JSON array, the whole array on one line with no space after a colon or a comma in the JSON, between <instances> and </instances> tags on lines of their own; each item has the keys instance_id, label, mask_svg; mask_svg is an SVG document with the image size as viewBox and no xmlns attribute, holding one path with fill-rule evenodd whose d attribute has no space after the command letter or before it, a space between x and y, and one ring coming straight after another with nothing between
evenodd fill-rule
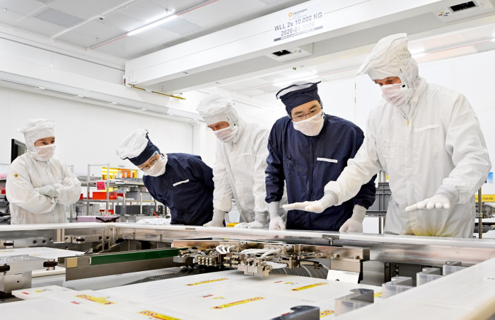
<instances>
[{"instance_id":1,"label":"tall man in white cleanroom suit holding both palms out flat","mask_svg":"<svg viewBox=\"0 0 495 320\"><path fill-rule=\"evenodd\" d=\"M472 237L473 195L491 162L469 101L418 75L405 33L380 40L358 74L380 85L383 100L368 115L356 157L305 210L340 205L384 170L392 191L385 233ZM362 220L348 222L352 232Z\"/></svg>"}]
</instances>

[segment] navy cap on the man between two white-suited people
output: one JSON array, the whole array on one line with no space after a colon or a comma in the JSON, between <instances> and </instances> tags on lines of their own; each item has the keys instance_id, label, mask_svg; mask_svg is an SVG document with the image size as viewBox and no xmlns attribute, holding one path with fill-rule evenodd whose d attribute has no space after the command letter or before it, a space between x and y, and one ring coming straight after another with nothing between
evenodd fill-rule
<instances>
[{"instance_id":1,"label":"navy cap on the man between two white-suited people","mask_svg":"<svg viewBox=\"0 0 495 320\"><path fill-rule=\"evenodd\" d=\"M321 104L320 96L318 96L318 84L308 82L303 84L292 84L287 88L281 89L281 91L276 93L276 98L280 99L285 105L287 114L291 114L293 108L308 103L310 101L318 101Z\"/></svg>"}]
</instances>

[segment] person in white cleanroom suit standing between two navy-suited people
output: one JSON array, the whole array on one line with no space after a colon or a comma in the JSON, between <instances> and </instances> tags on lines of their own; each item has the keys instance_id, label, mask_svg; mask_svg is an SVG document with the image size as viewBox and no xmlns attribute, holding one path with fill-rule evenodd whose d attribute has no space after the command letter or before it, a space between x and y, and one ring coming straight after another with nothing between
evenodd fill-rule
<instances>
[{"instance_id":1,"label":"person in white cleanroom suit standing between two navy-suited people","mask_svg":"<svg viewBox=\"0 0 495 320\"><path fill-rule=\"evenodd\" d=\"M240 118L228 93L211 93L199 103L197 111L217 138L214 213L211 222L204 226L223 226L226 212L232 209L233 196L241 222L235 227L264 228L268 212L264 170L269 128Z\"/></svg>"}]
</instances>

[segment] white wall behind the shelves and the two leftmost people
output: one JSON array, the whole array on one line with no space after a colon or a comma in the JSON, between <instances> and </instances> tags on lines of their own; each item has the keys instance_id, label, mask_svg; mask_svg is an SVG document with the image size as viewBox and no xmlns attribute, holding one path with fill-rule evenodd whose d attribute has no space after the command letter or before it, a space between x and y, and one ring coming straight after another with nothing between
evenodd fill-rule
<instances>
[{"instance_id":1,"label":"white wall behind the shelves and the two leftmost people","mask_svg":"<svg viewBox=\"0 0 495 320\"><path fill-rule=\"evenodd\" d=\"M187 122L158 118L145 113L105 108L38 93L0 86L0 164L10 164L11 139L24 142L15 132L32 118L55 122L57 150L55 156L74 165L75 173L87 174L88 164L123 165L134 168L116 154L117 147L132 130L145 128L161 152L192 153L192 126ZM3 166L5 168L5 166ZM95 168L95 173L98 170Z\"/></svg>"}]
</instances>

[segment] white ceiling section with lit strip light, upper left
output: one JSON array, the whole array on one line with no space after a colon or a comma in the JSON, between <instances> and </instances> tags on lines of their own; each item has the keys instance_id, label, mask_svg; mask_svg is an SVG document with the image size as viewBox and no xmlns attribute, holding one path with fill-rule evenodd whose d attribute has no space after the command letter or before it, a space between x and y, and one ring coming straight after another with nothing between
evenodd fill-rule
<instances>
[{"instance_id":1,"label":"white ceiling section with lit strip light, upper left","mask_svg":"<svg viewBox=\"0 0 495 320\"><path fill-rule=\"evenodd\" d=\"M0 0L0 23L49 38L66 31L56 37L57 42L91 48L119 59L134 59L305 1ZM120 38L170 11L180 13L196 6L200 7L173 21ZM98 18L113 8L104 15L105 20Z\"/></svg>"}]
</instances>

